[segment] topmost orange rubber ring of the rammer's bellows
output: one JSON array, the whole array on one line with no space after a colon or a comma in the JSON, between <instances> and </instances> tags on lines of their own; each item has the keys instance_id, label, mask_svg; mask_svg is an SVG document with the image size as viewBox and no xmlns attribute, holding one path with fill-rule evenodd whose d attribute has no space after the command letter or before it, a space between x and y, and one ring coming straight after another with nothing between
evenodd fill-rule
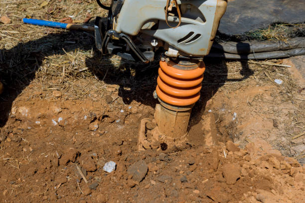
<instances>
[{"instance_id":1,"label":"topmost orange rubber ring of the rammer's bellows","mask_svg":"<svg viewBox=\"0 0 305 203\"><path fill-rule=\"evenodd\" d=\"M162 71L164 73L166 73L167 75L174 77L174 78L183 79L183 80L198 78L198 77L202 76L205 71L204 63L200 63L200 67L198 67L196 69L187 70L187 71L168 66L165 61L160 61L160 67L161 67Z\"/></svg>"}]
</instances>

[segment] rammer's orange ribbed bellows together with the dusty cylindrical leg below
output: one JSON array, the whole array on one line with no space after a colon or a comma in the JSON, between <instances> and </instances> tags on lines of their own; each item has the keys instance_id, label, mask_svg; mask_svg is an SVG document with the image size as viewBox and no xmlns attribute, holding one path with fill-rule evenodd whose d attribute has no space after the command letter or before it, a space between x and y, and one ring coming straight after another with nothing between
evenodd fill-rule
<instances>
[{"instance_id":1,"label":"rammer's orange ribbed bellows together with the dusty cylindrical leg below","mask_svg":"<svg viewBox=\"0 0 305 203\"><path fill-rule=\"evenodd\" d=\"M156 105L154 118L165 142L185 140L191 109L200 97L204 70L203 62L160 62L156 87L160 104Z\"/></svg>"}]
</instances>

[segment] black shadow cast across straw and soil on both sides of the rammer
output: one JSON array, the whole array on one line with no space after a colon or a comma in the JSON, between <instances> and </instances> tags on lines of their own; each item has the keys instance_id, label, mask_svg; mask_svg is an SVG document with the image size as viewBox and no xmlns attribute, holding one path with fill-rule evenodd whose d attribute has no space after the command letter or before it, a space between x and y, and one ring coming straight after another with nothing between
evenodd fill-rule
<instances>
[{"instance_id":1,"label":"black shadow cast across straw and soil on both sides of the rammer","mask_svg":"<svg viewBox=\"0 0 305 203\"><path fill-rule=\"evenodd\" d=\"M76 43L65 43L66 41ZM19 43L9 50L0 50L0 81L4 85L4 92L0 96L0 127L5 125L13 101L34 79L44 58L54 54L64 55L63 49L70 52L78 48L83 51L95 49L94 35L86 32L63 31L51 33L37 40ZM124 63L124 71L122 69L118 71L115 67L105 68L103 66L103 60L107 59L109 56L102 56L98 51L94 51L93 57L86 59L86 66L100 80L104 79L106 84L119 85L119 96L126 104L135 100L154 107L156 100L152 98L152 92L156 86L158 61L151 64L128 62ZM194 106L191 126L200 121L206 102L225 82L228 82L228 68L223 60L208 59L205 62L207 71L204 74L202 96ZM237 81L242 81L253 74L247 61L241 61L241 64L244 77ZM213 72L216 70L222 74L215 76L209 70L213 70ZM107 72L106 77L105 72Z\"/></svg>"}]
</instances>

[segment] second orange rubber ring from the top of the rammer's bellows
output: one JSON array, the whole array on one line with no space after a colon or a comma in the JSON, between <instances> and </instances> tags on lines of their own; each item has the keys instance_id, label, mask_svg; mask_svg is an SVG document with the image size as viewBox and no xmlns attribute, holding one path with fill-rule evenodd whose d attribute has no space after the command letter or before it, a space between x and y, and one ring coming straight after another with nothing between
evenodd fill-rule
<instances>
[{"instance_id":1,"label":"second orange rubber ring from the top of the rammer's bellows","mask_svg":"<svg viewBox=\"0 0 305 203\"><path fill-rule=\"evenodd\" d=\"M159 77L164 81L164 83L167 83L168 85L171 85L173 87L177 88L191 88L195 87L197 85L200 85L203 80L203 75L201 75L199 78L193 79L193 80L177 80L173 77L170 77L166 73L162 71L161 68L158 70Z\"/></svg>"}]
</instances>

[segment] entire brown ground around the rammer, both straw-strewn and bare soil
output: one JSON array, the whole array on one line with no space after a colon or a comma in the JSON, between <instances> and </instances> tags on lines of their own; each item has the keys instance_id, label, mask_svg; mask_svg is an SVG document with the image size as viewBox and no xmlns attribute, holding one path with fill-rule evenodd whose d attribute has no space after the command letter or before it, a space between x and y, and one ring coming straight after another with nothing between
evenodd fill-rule
<instances>
[{"instance_id":1,"label":"entire brown ground around the rammer, both straw-strewn and bare soil","mask_svg":"<svg viewBox=\"0 0 305 203\"><path fill-rule=\"evenodd\" d=\"M298 69L276 66L291 65L282 60L206 61L188 142L138 152L140 120L153 118L157 102L157 62L102 57L91 33L16 18L54 5L48 17L58 21L75 10L99 13L89 1L1 8L12 24L0 26L0 202L305 202L305 136L293 139L305 129Z\"/></svg>"}]
</instances>

